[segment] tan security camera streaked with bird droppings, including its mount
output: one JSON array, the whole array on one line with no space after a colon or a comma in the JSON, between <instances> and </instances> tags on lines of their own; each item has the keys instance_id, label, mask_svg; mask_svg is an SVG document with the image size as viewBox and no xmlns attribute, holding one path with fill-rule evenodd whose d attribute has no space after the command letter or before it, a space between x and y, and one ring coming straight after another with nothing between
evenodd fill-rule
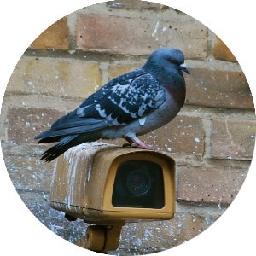
<instances>
[{"instance_id":1,"label":"tan security camera streaked with bird droppings, including its mount","mask_svg":"<svg viewBox=\"0 0 256 256\"><path fill-rule=\"evenodd\" d=\"M175 162L164 152L83 143L57 160L49 201L70 220L82 218L96 224L88 228L84 247L100 252L115 249L126 221L173 217ZM88 241L94 236L97 241L100 236L106 240L106 229L107 234L118 236L110 242L114 245Z\"/></svg>"}]
</instances>

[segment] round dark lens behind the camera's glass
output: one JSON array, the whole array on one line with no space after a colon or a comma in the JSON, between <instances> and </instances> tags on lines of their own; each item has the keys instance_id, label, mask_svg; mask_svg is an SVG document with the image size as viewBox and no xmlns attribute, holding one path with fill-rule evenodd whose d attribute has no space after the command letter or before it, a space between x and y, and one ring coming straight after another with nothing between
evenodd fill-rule
<instances>
[{"instance_id":1,"label":"round dark lens behind the camera's glass","mask_svg":"<svg viewBox=\"0 0 256 256\"><path fill-rule=\"evenodd\" d=\"M142 170L137 170L128 175L126 179L126 186L133 195L147 195L149 189L151 188L151 182L147 173L143 172Z\"/></svg>"}]
</instances>

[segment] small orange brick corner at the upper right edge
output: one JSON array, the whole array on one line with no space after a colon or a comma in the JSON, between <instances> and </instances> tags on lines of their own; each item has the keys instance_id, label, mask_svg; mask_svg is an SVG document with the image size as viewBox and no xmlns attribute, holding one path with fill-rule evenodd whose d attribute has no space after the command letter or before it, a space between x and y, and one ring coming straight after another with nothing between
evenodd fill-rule
<instances>
[{"instance_id":1,"label":"small orange brick corner at the upper right edge","mask_svg":"<svg viewBox=\"0 0 256 256\"><path fill-rule=\"evenodd\" d=\"M220 38L216 38L212 55L216 60L237 62L235 56Z\"/></svg>"}]
</instances>

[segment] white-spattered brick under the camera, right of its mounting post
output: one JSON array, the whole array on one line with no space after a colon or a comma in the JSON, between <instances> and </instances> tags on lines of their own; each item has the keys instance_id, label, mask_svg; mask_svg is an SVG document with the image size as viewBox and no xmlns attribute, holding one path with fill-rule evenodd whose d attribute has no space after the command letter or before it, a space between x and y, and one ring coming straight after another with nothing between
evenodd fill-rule
<instances>
[{"instance_id":1,"label":"white-spattered brick under the camera, right of its mounting post","mask_svg":"<svg viewBox=\"0 0 256 256\"><path fill-rule=\"evenodd\" d=\"M155 253L188 241L206 228L203 218L190 213L176 213L174 218L167 221L125 224L119 250L141 248L140 252Z\"/></svg>"}]
</instances>

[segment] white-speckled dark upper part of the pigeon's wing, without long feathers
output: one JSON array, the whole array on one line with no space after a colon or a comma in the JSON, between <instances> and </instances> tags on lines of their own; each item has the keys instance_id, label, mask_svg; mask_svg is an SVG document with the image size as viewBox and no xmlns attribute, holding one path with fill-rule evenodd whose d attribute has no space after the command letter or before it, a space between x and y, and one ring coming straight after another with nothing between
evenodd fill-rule
<instances>
[{"instance_id":1,"label":"white-speckled dark upper part of the pigeon's wing, without long feathers","mask_svg":"<svg viewBox=\"0 0 256 256\"><path fill-rule=\"evenodd\" d=\"M165 90L150 74L137 69L113 79L93 96L93 101L88 98L80 105L79 117L102 118L119 126L159 108L165 101Z\"/></svg>"}]
</instances>

